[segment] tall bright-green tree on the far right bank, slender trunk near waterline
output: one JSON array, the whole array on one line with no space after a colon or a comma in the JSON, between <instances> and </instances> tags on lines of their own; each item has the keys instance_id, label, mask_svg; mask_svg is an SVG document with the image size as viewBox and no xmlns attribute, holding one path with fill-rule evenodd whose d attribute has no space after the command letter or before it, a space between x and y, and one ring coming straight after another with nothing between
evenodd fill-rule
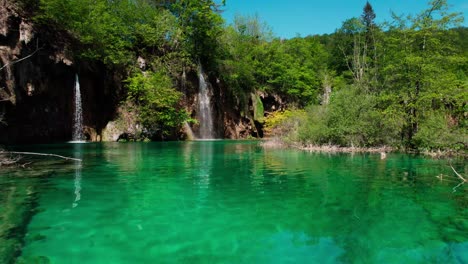
<instances>
[{"instance_id":1,"label":"tall bright-green tree on the far right bank, slender trunk near waterline","mask_svg":"<svg viewBox=\"0 0 468 264\"><path fill-rule=\"evenodd\" d=\"M466 84L453 71L460 58L446 39L447 29L459 19L458 14L448 12L446 1L436 0L415 17L395 17L397 23L389 30L385 93L387 97L393 94L393 103L401 104L405 113L402 135L408 147L417 147L413 137L425 116L448 105L464 104L460 99L466 98Z\"/></svg>"}]
</instances>

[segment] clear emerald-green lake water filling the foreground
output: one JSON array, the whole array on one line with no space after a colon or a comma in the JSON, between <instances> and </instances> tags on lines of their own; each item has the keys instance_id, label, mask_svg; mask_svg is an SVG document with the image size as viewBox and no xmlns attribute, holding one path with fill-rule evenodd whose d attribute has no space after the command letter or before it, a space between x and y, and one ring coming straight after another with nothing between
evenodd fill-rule
<instances>
[{"instance_id":1,"label":"clear emerald-green lake water filling the foreground","mask_svg":"<svg viewBox=\"0 0 468 264\"><path fill-rule=\"evenodd\" d=\"M445 160L249 141L35 150L83 162L3 172L0 243L19 263L468 263L466 184Z\"/></svg>"}]
</instances>

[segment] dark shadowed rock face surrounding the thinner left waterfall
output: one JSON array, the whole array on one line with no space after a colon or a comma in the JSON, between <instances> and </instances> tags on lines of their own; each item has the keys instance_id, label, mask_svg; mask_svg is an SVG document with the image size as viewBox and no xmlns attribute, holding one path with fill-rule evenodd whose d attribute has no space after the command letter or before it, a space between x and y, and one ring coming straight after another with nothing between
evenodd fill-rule
<instances>
[{"instance_id":1,"label":"dark shadowed rock face surrounding the thinner left waterfall","mask_svg":"<svg viewBox=\"0 0 468 264\"><path fill-rule=\"evenodd\" d=\"M67 32L35 25L13 0L0 0L0 143L71 139L73 88L80 76L84 133L100 140L115 113L120 80L103 65L76 61Z\"/></svg>"}]
</instances>

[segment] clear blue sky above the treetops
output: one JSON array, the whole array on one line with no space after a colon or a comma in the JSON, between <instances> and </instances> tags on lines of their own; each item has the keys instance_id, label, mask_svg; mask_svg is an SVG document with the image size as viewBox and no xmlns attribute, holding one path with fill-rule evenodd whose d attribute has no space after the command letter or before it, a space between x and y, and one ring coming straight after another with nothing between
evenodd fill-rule
<instances>
[{"instance_id":1,"label":"clear blue sky above the treetops","mask_svg":"<svg viewBox=\"0 0 468 264\"><path fill-rule=\"evenodd\" d=\"M390 20L390 12L416 14L428 7L429 0L370 0L377 22ZM276 36L291 38L333 33L341 23L359 17L366 0L226 0L223 17L231 23L236 14L255 15L266 22ZM468 26L468 0L448 0L451 10L462 12Z\"/></svg>"}]
</instances>

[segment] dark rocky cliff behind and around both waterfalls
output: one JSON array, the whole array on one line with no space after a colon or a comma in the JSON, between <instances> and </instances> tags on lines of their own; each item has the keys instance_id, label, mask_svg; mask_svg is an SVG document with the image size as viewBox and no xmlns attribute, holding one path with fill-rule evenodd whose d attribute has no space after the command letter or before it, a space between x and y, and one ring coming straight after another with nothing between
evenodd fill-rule
<instances>
[{"instance_id":1,"label":"dark rocky cliff behind and around both waterfalls","mask_svg":"<svg viewBox=\"0 0 468 264\"><path fill-rule=\"evenodd\" d=\"M0 144L65 142L71 139L75 75L81 86L84 133L88 140L115 141L141 127L127 111L122 70L77 59L79 45L64 31L35 24L16 1L0 0ZM140 59L140 58L139 58ZM188 70L177 82L183 107L198 119L198 73ZM262 137L262 117L278 109L275 97L252 94L242 105L228 87L207 74L217 138ZM192 124L196 132L197 124ZM182 139L175 131L161 139Z\"/></svg>"}]
</instances>

